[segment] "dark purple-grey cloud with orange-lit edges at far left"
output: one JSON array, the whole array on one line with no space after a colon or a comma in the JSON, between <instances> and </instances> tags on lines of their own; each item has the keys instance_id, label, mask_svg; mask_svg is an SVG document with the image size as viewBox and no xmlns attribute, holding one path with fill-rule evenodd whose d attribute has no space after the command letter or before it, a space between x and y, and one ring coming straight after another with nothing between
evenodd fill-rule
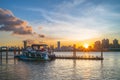
<instances>
[{"instance_id":1,"label":"dark purple-grey cloud with orange-lit edges at far left","mask_svg":"<svg viewBox=\"0 0 120 80\"><path fill-rule=\"evenodd\" d=\"M32 27L28 23L13 15L10 10L0 8L0 31L12 31L13 34L32 34Z\"/></svg>"}]
</instances>

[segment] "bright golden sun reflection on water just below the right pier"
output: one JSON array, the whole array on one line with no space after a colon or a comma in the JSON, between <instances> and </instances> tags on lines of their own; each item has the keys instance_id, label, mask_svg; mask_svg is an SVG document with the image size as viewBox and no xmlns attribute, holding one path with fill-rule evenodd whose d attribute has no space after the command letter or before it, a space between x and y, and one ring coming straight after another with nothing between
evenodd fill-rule
<instances>
[{"instance_id":1,"label":"bright golden sun reflection on water just below the right pier","mask_svg":"<svg viewBox=\"0 0 120 80\"><path fill-rule=\"evenodd\" d=\"M89 80L91 76L101 76L102 73L97 72L99 75L96 75L95 70L103 68L103 61L73 60L73 67L75 69L74 73L76 75L80 75L82 79Z\"/></svg>"}]
</instances>

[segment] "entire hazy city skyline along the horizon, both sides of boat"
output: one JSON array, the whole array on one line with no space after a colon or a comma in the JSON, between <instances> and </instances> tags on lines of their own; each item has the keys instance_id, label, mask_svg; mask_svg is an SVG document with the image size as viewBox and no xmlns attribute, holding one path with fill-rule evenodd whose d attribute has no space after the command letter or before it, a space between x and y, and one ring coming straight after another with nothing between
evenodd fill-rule
<instances>
[{"instance_id":1,"label":"entire hazy city skyline along the horizon, both sides of boat","mask_svg":"<svg viewBox=\"0 0 120 80\"><path fill-rule=\"evenodd\" d=\"M33 44L36 44L36 43L30 43L29 41L25 40L25 41L22 41L22 46L0 46L0 47L9 47L9 48L24 48L24 47L27 47L27 46L31 46ZM44 43L41 43L41 44L44 44ZM112 42L109 41L108 38L104 38L102 40L96 40L95 42L93 42L92 45L88 44L88 43L80 43L80 42L77 42L77 43L73 43L73 44L64 44L64 42L62 41L57 41L55 45L51 44L51 45L48 45L49 48L55 48L57 50L61 50L61 49L67 49L67 48L72 48L73 45L76 45L76 48L85 48L85 49L96 49L96 50L101 50L101 48L103 49L109 49L109 48L118 48L120 49L120 44L119 44L119 40L118 39L113 39Z\"/></svg>"}]
</instances>

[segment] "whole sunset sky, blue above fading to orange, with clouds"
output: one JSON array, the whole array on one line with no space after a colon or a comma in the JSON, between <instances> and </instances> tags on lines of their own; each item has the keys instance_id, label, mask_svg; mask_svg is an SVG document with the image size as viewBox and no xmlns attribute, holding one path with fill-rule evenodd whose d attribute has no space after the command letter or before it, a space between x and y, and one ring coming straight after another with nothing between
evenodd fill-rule
<instances>
[{"instance_id":1,"label":"whole sunset sky, blue above fading to orange, with clouds","mask_svg":"<svg viewBox=\"0 0 120 80\"><path fill-rule=\"evenodd\" d=\"M0 0L0 45L120 40L120 0Z\"/></svg>"}]
</instances>

